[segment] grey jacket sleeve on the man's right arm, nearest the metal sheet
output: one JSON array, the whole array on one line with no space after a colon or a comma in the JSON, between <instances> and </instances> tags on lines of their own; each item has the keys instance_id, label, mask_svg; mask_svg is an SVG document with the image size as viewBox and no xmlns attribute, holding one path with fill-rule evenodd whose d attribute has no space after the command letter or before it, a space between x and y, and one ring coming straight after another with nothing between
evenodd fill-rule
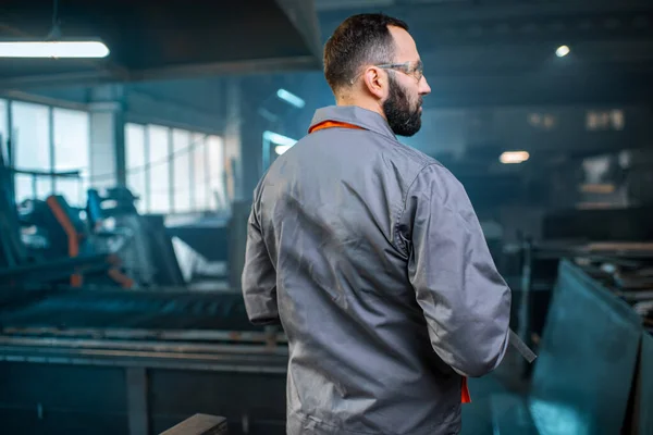
<instances>
[{"instance_id":1,"label":"grey jacket sleeve on the man's right arm, nearest the metal sheet","mask_svg":"<svg viewBox=\"0 0 653 435\"><path fill-rule=\"evenodd\" d=\"M424 167L409 188L402 227L431 346L463 376L491 372L508 345L510 290L463 185L439 164Z\"/></svg>"}]
</instances>

